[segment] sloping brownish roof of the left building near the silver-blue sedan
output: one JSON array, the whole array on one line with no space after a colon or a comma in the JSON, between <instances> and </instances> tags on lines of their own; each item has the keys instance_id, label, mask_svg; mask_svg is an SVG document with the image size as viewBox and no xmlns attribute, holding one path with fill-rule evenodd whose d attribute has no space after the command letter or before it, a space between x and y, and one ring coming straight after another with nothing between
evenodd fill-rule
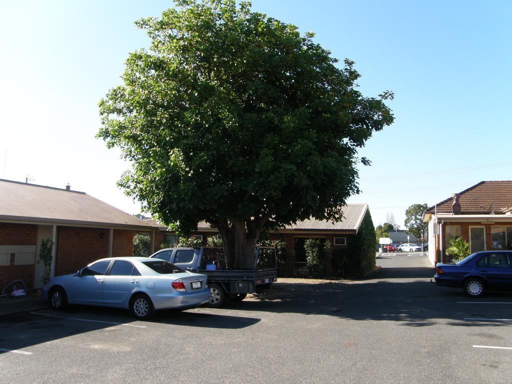
<instances>
[{"instance_id":1,"label":"sloping brownish roof of the left building near the silver-blue sedan","mask_svg":"<svg viewBox=\"0 0 512 384\"><path fill-rule=\"evenodd\" d=\"M148 228L84 192L0 179L0 219Z\"/></svg>"}]
</instances>

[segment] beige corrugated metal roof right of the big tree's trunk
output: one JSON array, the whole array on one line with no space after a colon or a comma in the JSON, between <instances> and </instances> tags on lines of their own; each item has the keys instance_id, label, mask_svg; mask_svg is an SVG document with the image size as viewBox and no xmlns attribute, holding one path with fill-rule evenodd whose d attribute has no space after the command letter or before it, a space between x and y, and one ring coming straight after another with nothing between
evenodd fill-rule
<instances>
[{"instance_id":1,"label":"beige corrugated metal roof right of the big tree's trunk","mask_svg":"<svg viewBox=\"0 0 512 384\"><path fill-rule=\"evenodd\" d=\"M295 224L285 226L290 230L359 230L362 219L364 219L368 204L347 204L343 206L342 221L316 220L313 218L298 221Z\"/></svg>"}]
</instances>

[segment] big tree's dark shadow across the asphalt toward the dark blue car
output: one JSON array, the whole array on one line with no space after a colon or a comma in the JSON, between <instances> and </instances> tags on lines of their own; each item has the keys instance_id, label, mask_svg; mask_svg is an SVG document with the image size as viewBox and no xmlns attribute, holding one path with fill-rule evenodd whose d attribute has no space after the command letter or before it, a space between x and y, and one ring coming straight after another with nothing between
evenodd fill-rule
<instances>
[{"instance_id":1,"label":"big tree's dark shadow across the asphalt toward the dark blue car","mask_svg":"<svg viewBox=\"0 0 512 384\"><path fill-rule=\"evenodd\" d=\"M454 326L510 325L512 321L476 321L476 318L512 319L509 292L488 292L484 298L467 298L462 288L438 287L430 280L433 268L383 268L369 278L322 284L276 283L268 295L234 306L240 311L327 315L355 321L388 321L425 327L439 323ZM470 302L473 305L465 304ZM494 313L494 314L493 314Z\"/></svg>"}]
</instances>

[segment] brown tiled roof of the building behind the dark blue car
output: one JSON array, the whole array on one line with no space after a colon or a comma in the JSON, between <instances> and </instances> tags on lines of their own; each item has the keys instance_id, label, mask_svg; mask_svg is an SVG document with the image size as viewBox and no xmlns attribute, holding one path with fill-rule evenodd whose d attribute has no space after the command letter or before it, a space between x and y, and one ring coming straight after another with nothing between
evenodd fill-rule
<instances>
[{"instance_id":1,"label":"brown tiled roof of the building behind the dark blue car","mask_svg":"<svg viewBox=\"0 0 512 384\"><path fill-rule=\"evenodd\" d=\"M512 181L481 181L460 192L461 214L503 214L512 206ZM436 206L429 207L425 213L451 213L453 197L443 200Z\"/></svg>"}]
</instances>

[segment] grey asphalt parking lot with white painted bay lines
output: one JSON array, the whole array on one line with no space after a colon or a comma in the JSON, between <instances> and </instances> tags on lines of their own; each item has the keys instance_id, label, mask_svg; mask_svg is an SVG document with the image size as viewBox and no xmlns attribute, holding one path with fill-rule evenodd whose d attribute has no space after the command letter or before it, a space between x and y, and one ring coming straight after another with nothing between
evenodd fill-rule
<instances>
[{"instance_id":1,"label":"grey asphalt parking lot with white painted bay lines","mask_svg":"<svg viewBox=\"0 0 512 384\"><path fill-rule=\"evenodd\" d=\"M0 319L2 382L509 383L512 293L437 287L389 253L357 281L283 280L223 309L39 309Z\"/></svg>"}]
</instances>

